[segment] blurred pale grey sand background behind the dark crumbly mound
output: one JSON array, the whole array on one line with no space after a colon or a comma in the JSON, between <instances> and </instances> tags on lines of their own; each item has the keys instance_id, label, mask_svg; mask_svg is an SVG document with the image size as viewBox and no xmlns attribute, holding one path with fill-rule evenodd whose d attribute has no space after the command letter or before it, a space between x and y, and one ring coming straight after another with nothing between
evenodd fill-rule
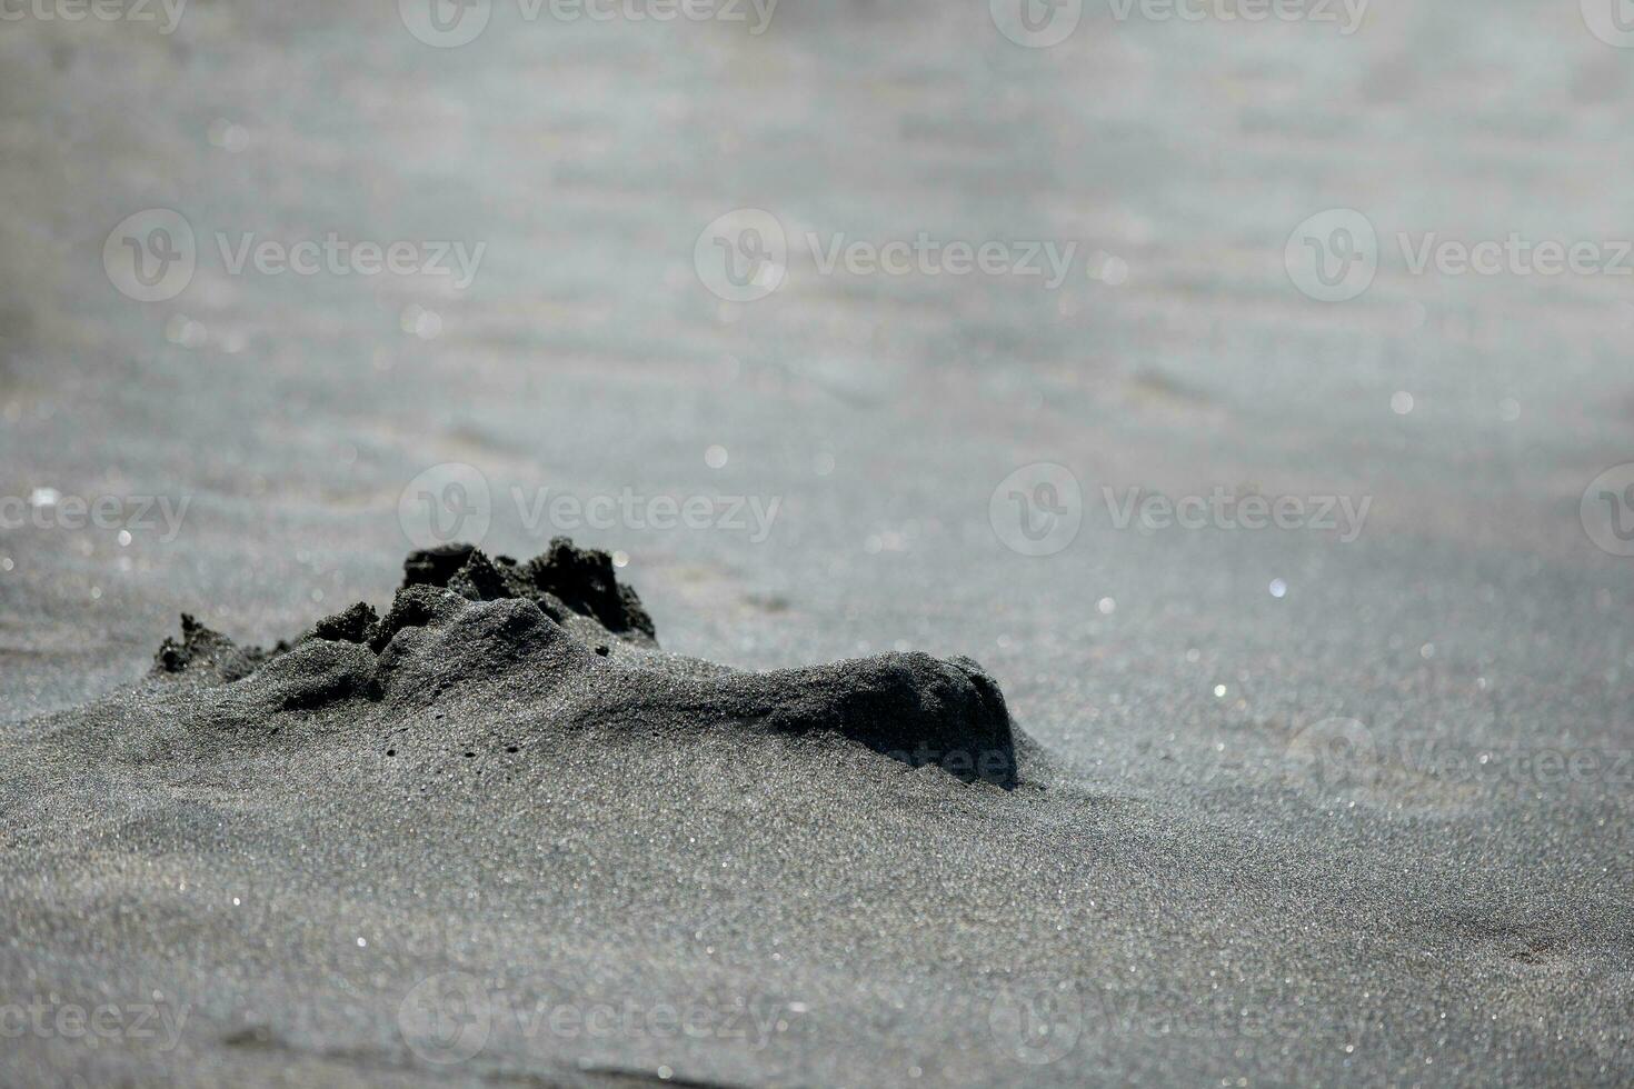
<instances>
[{"instance_id":1,"label":"blurred pale grey sand background behind the dark crumbly mound","mask_svg":"<svg viewBox=\"0 0 1634 1089\"><path fill-rule=\"evenodd\" d=\"M1626 771L1516 785L1384 756L1368 829L1286 780L1333 718L1466 771L1634 749L1634 560L1578 513L1634 460L1634 278L1413 276L1395 247L1634 233L1634 51L1564 0L1379 2L1353 34L1111 11L1046 49L917 0L784 0L758 36L495 3L454 49L391 3L0 23L0 495L188 501L168 540L0 531L0 730L136 679L183 609L271 642L386 602L405 487L459 462L513 555L560 532L513 488L776 498L761 542L572 532L627 557L668 648L966 653L1090 790L1183 793L1222 828L1252 802L1273 838L1320 825L1379 865L1405 810L1433 823L1418 862L1471 887L1626 900ZM103 248L155 207L191 224L198 271L137 302ZM791 240L1078 248L1051 291L822 274L794 247L776 292L725 302L694 243L740 207ZM1284 247L1332 207L1384 260L1324 304ZM214 242L332 230L485 250L459 291L234 276ZM990 518L1036 462L1083 495L1047 557ZM1217 487L1371 508L1342 542L1118 529L1101 500ZM1551 986L1605 1012L1593 973ZM1613 1022L1585 1038L1626 1061Z\"/></svg>"}]
</instances>

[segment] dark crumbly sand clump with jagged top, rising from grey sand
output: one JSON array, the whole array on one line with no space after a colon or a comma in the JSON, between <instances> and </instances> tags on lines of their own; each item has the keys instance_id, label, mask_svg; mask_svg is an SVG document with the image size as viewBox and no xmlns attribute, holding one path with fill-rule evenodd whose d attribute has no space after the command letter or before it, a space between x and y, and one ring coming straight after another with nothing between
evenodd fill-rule
<instances>
[{"instance_id":1,"label":"dark crumbly sand clump with jagged top, rising from grey sand","mask_svg":"<svg viewBox=\"0 0 1634 1089\"><path fill-rule=\"evenodd\" d=\"M1003 694L969 658L743 673L668 655L611 557L560 537L526 563L472 545L413 552L384 616L358 602L271 650L240 650L183 616L154 676L181 682L178 720L204 746L346 730L480 691L554 709L567 728L833 736L966 782L1016 784Z\"/></svg>"}]
</instances>

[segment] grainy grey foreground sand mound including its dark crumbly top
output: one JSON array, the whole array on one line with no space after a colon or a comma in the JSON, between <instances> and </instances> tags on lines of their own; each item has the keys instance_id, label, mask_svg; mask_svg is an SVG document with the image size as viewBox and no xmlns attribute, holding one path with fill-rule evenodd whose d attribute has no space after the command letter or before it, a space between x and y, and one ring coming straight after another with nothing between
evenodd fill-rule
<instances>
[{"instance_id":1,"label":"grainy grey foreground sand mound including its dark crumbly top","mask_svg":"<svg viewBox=\"0 0 1634 1089\"><path fill-rule=\"evenodd\" d=\"M1621 793L1136 792L1095 710L1046 759L966 660L667 653L565 542L185 619L0 735L0 1007L158 1011L0 1084L1629 1082Z\"/></svg>"}]
</instances>

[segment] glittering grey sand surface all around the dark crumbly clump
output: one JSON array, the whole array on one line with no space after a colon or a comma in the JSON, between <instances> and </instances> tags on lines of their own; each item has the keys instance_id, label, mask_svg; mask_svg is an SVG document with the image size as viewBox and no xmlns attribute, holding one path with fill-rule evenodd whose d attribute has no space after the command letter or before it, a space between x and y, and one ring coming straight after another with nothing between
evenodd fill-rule
<instances>
[{"instance_id":1,"label":"glittering grey sand surface all around the dark crumbly clump","mask_svg":"<svg viewBox=\"0 0 1634 1089\"><path fill-rule=\"evenodd\" d=\"M1047 49L784 3L0 23L0 1081L1627 1082L1634 560L1580 506L1629 483L1629 279L1399 237L1614 251L1634 51L1572 3ZM694 250L743 207L789 255L730 302ZM1335 207L1382 260L1324 304L1288 245ZM105 268L145 209L196 237L154 302ZM232 269L330 232L482 256ZM1077 248L806 243L920 232ZM667 651L979 661L1023 784L521 681L232 743L132 694L180 612L384 611L449 482L490 553L614 552Z\"/></svg>"}]
</instances>

